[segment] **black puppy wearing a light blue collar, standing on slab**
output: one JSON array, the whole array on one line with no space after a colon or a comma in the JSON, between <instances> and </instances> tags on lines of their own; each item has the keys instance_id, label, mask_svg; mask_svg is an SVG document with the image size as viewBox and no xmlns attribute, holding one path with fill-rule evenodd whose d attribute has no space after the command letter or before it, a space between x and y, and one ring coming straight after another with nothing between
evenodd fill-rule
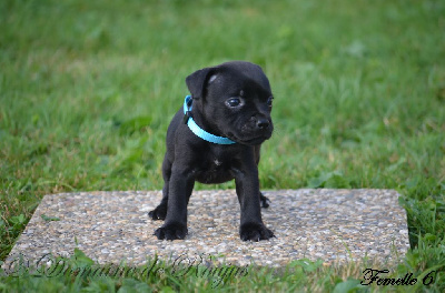
<instances>
[{"instance_id":1,"label":"black puppy wearing a light blue collar, standing on slab","mask_svg":"<svg viewBox=\"0 0 445 293\"><path fill-rule=\"evenodd\" d=\"M167 131L160 204L149 216L166 220L158 239L187 235L187 204L195 185L235 179L241 205L241 240L268 240L274 233L261 220L258 162L261 143L271 137L273 94L259 65L233 61L196 71L186 79L191 97Z\"/></svg>"}]
</instances>

